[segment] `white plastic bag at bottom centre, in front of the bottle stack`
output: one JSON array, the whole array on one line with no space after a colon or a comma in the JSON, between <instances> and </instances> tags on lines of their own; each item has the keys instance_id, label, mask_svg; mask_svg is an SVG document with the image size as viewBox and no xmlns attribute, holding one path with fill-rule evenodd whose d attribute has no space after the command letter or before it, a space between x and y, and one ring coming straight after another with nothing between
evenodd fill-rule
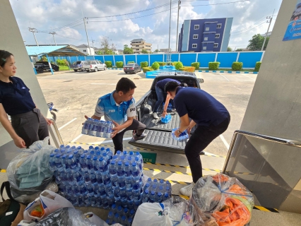
<instances>
[{"instance_id":1,"label":"white plastic bag at bottom centre, in front of the bottle stack","mask_svg":"<svg viewBox=\"0 0 301 226\"><path fill-rule=\"evenodd\" d=\"M168 216L169 208L163 203L142 203L135 214L132 226L172 226Z\"/></svg>"}]
</instances>

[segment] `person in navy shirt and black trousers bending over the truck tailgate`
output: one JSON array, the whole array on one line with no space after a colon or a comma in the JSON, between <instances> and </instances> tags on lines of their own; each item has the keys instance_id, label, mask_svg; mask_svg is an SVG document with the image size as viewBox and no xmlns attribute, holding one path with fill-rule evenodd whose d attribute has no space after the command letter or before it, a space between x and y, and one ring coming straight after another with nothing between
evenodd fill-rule
<instances>
[{"instance_id":1,"label":"person in navy shirt and black trousers bending over the truck tailgate","mask_svg":"<svg viewBox=\"0 0 301 226\"><path fill-rule=\"evenodd\" d=\"M181 119L175 136L187 129L198 127L187 141L185 155L189 162L193 182L180 189L184 196L191 196L194 184L203 176L199 154L211 141L228 129L230 114L223 104L204 90L197 88L182 88L178 83L169 82L165 92L174 100L175 108ZM191 119L189 123L189 118Z\"/></svg>"}]
</instances>

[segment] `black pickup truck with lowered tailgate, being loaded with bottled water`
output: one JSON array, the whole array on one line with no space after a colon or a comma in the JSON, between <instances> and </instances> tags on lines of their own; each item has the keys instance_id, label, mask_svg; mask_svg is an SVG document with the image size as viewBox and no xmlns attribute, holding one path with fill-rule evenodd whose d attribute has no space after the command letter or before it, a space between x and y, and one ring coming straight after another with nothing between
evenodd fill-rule
<instances>
[{"instance_id":1,"label":"black pickup truck with lowered tailgate, being loaded with bottled water","mask_svg":"<svg viewBox=\"0 0 301 226\"><path fill-rule=\"evenodd\" d=\"M203 79L196 78L196 75L191 72L164 72L156 76L151 85L151 90L148 90L148 92L136 102L138 120L146 124L146 131L144 132L147 133L148 136L143 140L130 141L129 143L141 148L184 153L186 141L175 141L171 133L172 129L179 127L179 115L177 113L170 113L172 114L172 119L167 124L163 124L161 117L159 117L159 119L153 118L153 107L155 107L155 102L158 100L155 93L155 84L165 78L172 78L181 83L187 83L189 87L199 89L201 88L199 83L203 83ZM158 112L163 112L163 105L160 106ZM194 130L195 127L191 130L191 133L193 133Z\"/></svg>"}]
</instances>

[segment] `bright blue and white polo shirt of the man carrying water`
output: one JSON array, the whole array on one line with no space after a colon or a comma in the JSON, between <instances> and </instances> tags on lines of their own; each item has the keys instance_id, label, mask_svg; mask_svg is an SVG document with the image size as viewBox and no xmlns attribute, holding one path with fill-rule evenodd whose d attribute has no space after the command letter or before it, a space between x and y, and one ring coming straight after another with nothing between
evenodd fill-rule
<instances>
[{"instance_id":1,"label":"bright blue and white polo shirt of the man carrying water","mask_svg":"<svg viewBox=\"0 0 301 226\"><path fill-rule=\"evenodd\" d=\"M112 93L108 93L98 99L94 115L97 117L105 116L106 121L116 121L119 125L124 124L127 117L136 117L136 105L134 98L129 101L121 102L118 105Z\"/></svg>"}]
</instances>

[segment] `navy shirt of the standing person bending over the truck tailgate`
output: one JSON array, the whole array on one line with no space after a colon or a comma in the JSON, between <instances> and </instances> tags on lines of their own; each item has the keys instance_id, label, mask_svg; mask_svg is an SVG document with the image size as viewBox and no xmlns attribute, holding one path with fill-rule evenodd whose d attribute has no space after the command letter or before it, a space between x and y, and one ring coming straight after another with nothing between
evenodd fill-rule
<instances>
[{"instance_id":1,"label":"navy shirt of the standing person bending over the truck tailgate","mask_svg":"<svg viewBox=\"0 0 301 226\"><path fill-rule=\"evenodd\" d=\"M230 115L216 98L198 88L178 87L174 103L179 117L188 114L199 126L218 126Z\"/></svg>"}]
</instances>

